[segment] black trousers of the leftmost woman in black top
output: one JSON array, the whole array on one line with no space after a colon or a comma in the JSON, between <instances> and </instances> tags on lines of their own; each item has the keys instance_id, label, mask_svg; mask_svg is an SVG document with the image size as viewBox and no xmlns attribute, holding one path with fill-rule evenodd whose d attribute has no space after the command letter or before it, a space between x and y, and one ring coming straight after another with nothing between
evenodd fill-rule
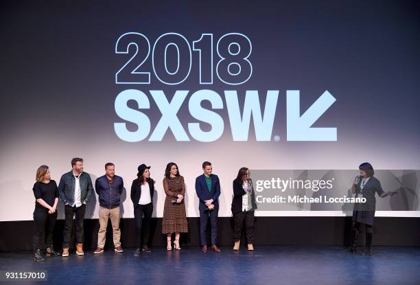
<instances>
[{"instance_id":1,"label":"black trousers of the leftmost woman in black top","mask_svg":"<svg viewBox=\"0 0 420 285\"><path fill-rule=\"evenodd\" d=\"M47 249L53 244L53 231L56 225L57 212L48 214L43 209L34 211L34 236L32 238L34 249Z\"/></svg>"}]
</instances>

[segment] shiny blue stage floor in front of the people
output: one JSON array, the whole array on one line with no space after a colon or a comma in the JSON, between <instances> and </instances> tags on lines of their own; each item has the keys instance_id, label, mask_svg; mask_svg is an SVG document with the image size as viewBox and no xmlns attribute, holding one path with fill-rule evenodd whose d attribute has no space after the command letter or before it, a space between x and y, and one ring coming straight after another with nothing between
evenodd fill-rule
<instances>
[{"instance_id":1,"label":"shiny blue stage floor in front of the people","mask_svg":"<svg viewBox=\"0 0 420 285\"><path fill-rule=\"evenodd\" d=\"M1 271L47 271L48 284L420 284L419 247L373 247L373 256L341 247L255 247L201 253L198 247L132 255L133 249L34 262L31 253L0 253ZM16 281L8 282L17 284ZM30 284L25 282L24 284ZM33 283L33 282L32 282ZM43 282L45 284L45 282Z\"/></svg>"}]
</instances>

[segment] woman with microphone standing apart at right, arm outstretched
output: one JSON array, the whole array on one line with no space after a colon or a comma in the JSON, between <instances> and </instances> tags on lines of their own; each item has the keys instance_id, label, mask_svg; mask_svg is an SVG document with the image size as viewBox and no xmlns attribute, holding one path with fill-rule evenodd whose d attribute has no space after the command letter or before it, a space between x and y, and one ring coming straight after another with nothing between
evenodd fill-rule
<instances>
[{"instance_id":1,"label":"woman with microphone standing apart at right, arm outstretched","mask_svg":"<svg viewBox=\"0 0 420 285\"><path fill-rule=\"evenodd\" d=\"M362 255L372 255L373 218L375 218L375 193L381 198L388 195L393 196L394 191L384 192L379 180L373 174L371 163L365 162L359 166L360 176L355 176L351 192L356 198L366 198L366 203L355 203L353 208L353 219L351 223L351 247L346 252L355 252L360 232L360 224L364 224L366 231L366 248Z\"/></svg>"}]
</instances>

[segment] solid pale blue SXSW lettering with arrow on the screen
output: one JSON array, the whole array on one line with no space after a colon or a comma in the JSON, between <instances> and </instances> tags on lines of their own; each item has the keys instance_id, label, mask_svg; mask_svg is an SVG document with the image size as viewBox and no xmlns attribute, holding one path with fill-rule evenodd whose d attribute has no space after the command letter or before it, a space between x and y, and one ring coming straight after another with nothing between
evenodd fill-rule
<instances>
[{"instance_id":1,"label":"solid pale blue SXSW lettering with arrow on the screen","mask_svg":"<svg viewBox=\"0 0 420 285\"><path fill-rule=\"evenodd\" d=\"M265 106L261 106L258 91L248 90L245 93L244 106L240 108L237 91L224 91L224 100L215 91L202 89L195 91L189 96L187 90L177 90L172 100L167 100L167 95L161 90L150 90L150 96L137 89L121 91L115 99L115 113L124 121L137 125L137 130L128 130L126 122L115 122L115 134L124 141L136 142L148 139L148 141L161 141L165 133L170 130L176 141L203 141L218 140L224 133L224 120L229 120L230 131L233 141L248 141L249 127L252 123L255 129L257 141L279 141L279 135L272 136L272 128L275 122L278 90L267 91ZM241 94L243 95L243 94ZM128 102L135 102L137 108L132 109ZM161 113L161 118L152 130L150 119L142 110L150 109L150 100L154 100ZM211 108L205 109L201 102L207 100ZM287 137L288 141L336 141L337 128L325 127L314 128L312 125L334 104L336 98L325 91L305 111L300 108L299 90L286 92L287 113ZM178 111L183 104L188 105L189 115L194 122L183 126L178 119ZM227 115L222 117L216 110L226 109ZM241 110L242 109L242 113ZM185 114L183 114L183 117ZM199 121L199 122L196 122ZM200 122L211 126L211 130L204 131L200 128Z\"/></svg>"}]
</instances>

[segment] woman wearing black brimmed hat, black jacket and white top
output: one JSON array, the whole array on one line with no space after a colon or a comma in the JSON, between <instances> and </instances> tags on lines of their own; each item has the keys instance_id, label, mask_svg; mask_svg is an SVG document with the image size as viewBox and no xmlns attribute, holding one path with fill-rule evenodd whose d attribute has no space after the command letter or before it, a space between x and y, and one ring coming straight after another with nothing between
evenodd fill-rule
<instances>
[{"instance_id":1,"label":"woman wearing black brimmed hat, black jacket and white top","mask_svg":"<svg viewBox=\"0 0 420 285\"><path fill-rule=\"evenodd\" d=\"M132 181L131 201L134 204L134 214L136 221L136 247L134 255L139 255L141 251L150 252L148 247L150 220L153 212L153 193L154 180L150 178L150 166L141 164L137 170L137 179ZM144 218L142 220L142 216ZM141 229L143 229L143 247L141 247Z\"/></svg>"}]
</instances>

